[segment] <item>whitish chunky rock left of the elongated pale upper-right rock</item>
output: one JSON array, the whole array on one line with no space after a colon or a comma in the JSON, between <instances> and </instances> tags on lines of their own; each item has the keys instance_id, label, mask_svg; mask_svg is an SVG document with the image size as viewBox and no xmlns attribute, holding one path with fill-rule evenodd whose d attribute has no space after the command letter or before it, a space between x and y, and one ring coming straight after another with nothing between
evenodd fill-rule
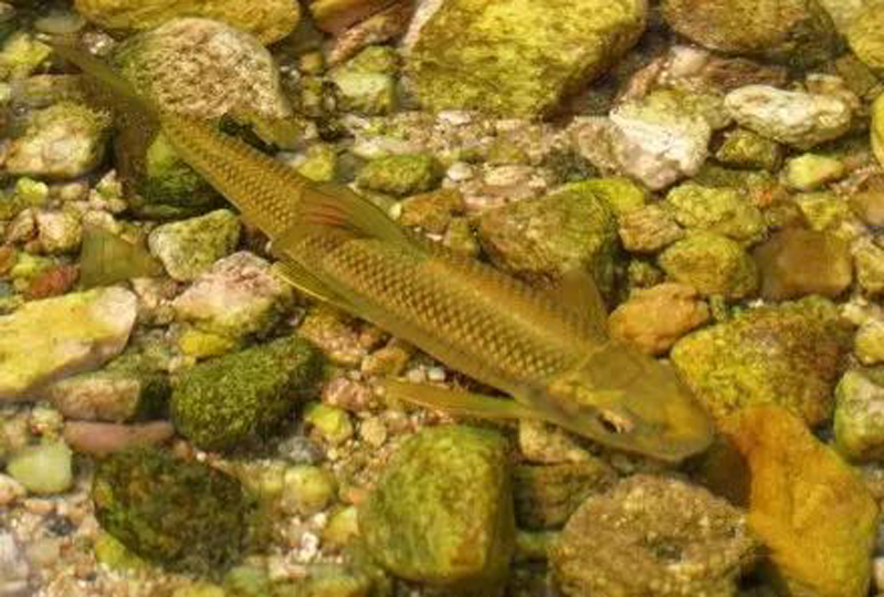
<instances>
[{"instance_id":1,"label":"whitish chunky rock left of the elongated pale upper-right rock","mask_svg":"<svg viewBox=\"0 0 884 597\"><path fill-rule=\"evenodd\" d=\"M695 175L708 155L711 118L687 97L650 95L617 107L611 122L613 159L651 189Z\"/></svg>"}]
</instances>

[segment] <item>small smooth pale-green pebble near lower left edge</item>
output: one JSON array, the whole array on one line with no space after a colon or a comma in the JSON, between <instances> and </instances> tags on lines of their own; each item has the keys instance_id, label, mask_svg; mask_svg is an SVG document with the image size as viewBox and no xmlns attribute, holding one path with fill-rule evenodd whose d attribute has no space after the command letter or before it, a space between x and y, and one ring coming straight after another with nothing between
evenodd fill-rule
<instances>
[{"instance_id":1,"label":"small smooth pale-green pebble near lower left edge","mask_svg":"<svg viewBox=\"0 0 884 597\"><path fill-rule=\"evenodd\" d=\"M63 441L28 446L10 454L7 472L30 493L63 493L74 483L72 455Z\"/></svg>"}]
</instances>

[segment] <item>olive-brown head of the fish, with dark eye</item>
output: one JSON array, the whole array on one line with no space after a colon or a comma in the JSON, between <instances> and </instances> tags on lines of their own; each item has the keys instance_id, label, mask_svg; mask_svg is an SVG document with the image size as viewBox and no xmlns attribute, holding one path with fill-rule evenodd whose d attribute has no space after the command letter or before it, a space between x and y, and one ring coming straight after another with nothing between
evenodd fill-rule
<instances>
[{"instance_id":1,"label":"olive-brown head of the fish, with dark eye","mask_svg":"<svg viewBox=\"0 0 884 597\"><path fill-rule=\"evenodd\" d=\"M669 365L611 343L554 379L540 408L557 425L613 448L678 461L704 451L714 428Z\"/></svg>"}]
</instances>

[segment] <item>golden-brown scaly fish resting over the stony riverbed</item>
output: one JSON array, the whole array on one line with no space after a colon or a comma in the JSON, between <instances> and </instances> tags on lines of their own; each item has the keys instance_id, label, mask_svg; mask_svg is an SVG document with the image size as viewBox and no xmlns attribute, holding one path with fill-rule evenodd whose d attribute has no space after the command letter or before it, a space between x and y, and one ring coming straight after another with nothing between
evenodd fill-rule
<instances>
[{"instance_id":1,"label":"golden-brown scaly fish resting over the stony riverbed","mask_svg":"<svg viewBox=\"0 0 884 597\"><path fill-rule=\"evenodd\" d=\"M82 50L56 51L152 114L181 158L269 237L283 279L511 398L399 380L383 384L388 395L550 422L669 462L711 444L711 419L677 373L609 337L588 272L565 275L555 290L532 286L417 237L346 186L314 184L211 123L137 98Z\"/></svg>"}]
</instances>

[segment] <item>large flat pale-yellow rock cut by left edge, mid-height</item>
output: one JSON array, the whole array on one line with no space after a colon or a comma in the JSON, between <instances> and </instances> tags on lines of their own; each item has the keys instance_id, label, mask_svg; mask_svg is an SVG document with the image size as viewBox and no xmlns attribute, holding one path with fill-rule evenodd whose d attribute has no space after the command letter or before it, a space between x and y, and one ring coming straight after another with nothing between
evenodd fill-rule
<instances>
[{"instance_id":1,"label":"large flat pale-yellow rock cut by left edge, mid-height","mask_svg":"<svg viewBox=\"0 0 884 597\"><path fill-rule=\"evenodd\" d=\"M101 367L126 346L137 301L103 289L25 303L0 317L0 402L36 398L41 386Z\"/></svg>"}]
</instances>

